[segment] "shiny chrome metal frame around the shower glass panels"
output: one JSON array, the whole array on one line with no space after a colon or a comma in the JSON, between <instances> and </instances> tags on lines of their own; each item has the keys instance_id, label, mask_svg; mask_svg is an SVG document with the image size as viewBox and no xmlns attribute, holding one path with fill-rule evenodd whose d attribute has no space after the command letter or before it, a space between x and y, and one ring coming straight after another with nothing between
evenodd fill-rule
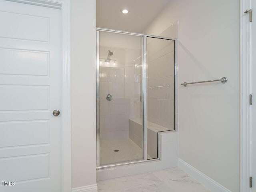
<instances>
[{"instance_id":1,"label":"shiny chrome metal frame around the shower glass panels","mask_svg":"<svg viewBox=\"0 0 256 192\"><path fill-rule=\"evenodd\" d=\"M117 164L100 166L100 98L99 98L99 96L100 96L100 78L99 78L99 76L100 76L100 31L142 37L142 114L143 114L143 120L142 120L143 147L142 147L142 150L143 150L143 153L142 153L142 160L139 160L139 161L131 161L131 162L125 162L125 163L117 163ZM149 160L147 159L147 38L148 37L174 41L174 98L175 98L174 99L174 130L176 130L176 83L177 83L176 82L176 74L177 74L176 48L177 48L177 39L162 37L162 36L145 35L145 34L139 34L139 33L134 33L134 32L126 32L126 31L121 31L121 30L96 28L96 141L97 141L96 142L96 145L97 145L96 169L159 160L159 156L158 156L158 158L149 159ZM158 149L159 149L159 147L158 147Z\"/></svg>"}]
</instances>

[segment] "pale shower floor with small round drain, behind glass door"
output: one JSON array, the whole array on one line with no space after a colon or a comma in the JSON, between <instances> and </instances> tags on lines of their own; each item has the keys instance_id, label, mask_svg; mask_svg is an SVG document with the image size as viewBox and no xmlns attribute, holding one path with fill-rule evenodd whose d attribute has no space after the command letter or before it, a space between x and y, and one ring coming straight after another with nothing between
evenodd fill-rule
<instances>
[{"instance_id":1,"label":"pale shower floor with small round drain, behind glass door","mask_svg":"<svg viewBox=\"0 0 256 192\"><path fill-rule=\"evenodd\" d=\"M142 160L142 149L129 138L100 140L101 166L136 160Z\"/></svg>"}]
</instances>

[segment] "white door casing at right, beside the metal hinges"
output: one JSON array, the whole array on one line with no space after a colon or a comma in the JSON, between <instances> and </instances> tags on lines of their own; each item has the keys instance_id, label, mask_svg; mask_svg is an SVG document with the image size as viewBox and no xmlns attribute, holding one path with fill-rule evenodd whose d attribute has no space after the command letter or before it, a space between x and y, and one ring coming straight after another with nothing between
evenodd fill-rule
<instances>
[{"instance_id":1,"label":"white door casing at right, beside the metal hinges","mask_svg":"<svg viewBox=\"0 0 256 192\"><path fill-rule=\"evenodd\" d=\"M240 191L250 192L251 168L251 66L252 66L252 23L249 14L252 0L240 0Z\"/></svg>"}]
</instances>

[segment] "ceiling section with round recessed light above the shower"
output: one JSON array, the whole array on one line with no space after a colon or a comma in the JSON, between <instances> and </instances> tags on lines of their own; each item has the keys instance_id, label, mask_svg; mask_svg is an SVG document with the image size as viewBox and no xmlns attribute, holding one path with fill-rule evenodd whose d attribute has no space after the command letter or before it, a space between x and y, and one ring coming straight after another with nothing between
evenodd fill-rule
<instances>
[{"instance_id":1,"label":"ceiling section with round recessed light above the shower","mask_svg":"<svg viewBox=\"0 0 256 192\"><path fill-rule=\"evenodd\" d=\"M96 27L141 33L170 0L96 0ZM129 10L123 14L122 9Z\"/></svg>"}]
</instances>

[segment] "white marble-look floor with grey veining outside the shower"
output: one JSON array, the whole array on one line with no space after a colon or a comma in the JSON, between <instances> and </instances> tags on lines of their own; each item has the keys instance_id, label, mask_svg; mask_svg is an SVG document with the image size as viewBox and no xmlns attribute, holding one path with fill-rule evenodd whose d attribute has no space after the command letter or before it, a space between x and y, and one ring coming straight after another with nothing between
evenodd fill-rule
<instances>
[{"instance_id":1,"label":"white marble-look floor with grey veining outside the shower","mask_svg":"<svg viewBox=\"0 0 256 192\"><path fill-rule=\"evenodd\" d=\"M97 182L98 192L210 192L180 168Z\"/></svg>"}]
</instances>

